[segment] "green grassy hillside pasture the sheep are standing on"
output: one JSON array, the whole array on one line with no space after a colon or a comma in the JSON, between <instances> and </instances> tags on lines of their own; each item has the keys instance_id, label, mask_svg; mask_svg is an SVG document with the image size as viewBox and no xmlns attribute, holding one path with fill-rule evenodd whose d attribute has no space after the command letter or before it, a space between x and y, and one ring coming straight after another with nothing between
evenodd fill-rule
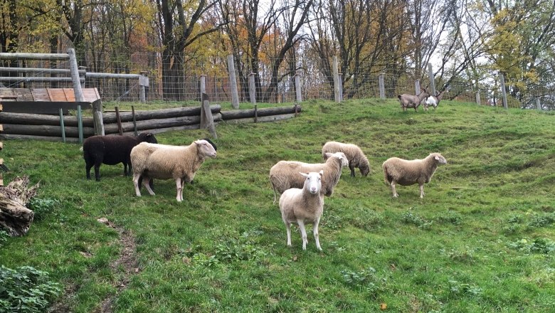
<instances>
[{"instance_id":1,"label":"green grassy hillside pasture the sheep are standing on","mask_svg":"<svg viewBox=\"0 0 555 313\"><path fill-rule=\"evenodd\" d=\"M226 107L227 108L227 107ZM71 312L553 312L555 115L442 102L401 112L393 100L302 103L294 120L219 124L218 157L177 203L172 181L134 196L122 166L85 179L78 144L10 140L14 176L40 182L47 210L28 235L9 238L0 264L36 267L65 287ZM189 144L206 131L157 135ZM268 171L280 159L321 161L324 142L358 144L371 174L344 170L325 199L316 250L299 233L286 246ZM392 198L381 163L440 152L423 199ZM47 205L44 205L46 203ZM119 233L134 236L139 271L125 288Z\"/></svg>"}]
</instances>

